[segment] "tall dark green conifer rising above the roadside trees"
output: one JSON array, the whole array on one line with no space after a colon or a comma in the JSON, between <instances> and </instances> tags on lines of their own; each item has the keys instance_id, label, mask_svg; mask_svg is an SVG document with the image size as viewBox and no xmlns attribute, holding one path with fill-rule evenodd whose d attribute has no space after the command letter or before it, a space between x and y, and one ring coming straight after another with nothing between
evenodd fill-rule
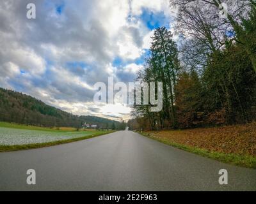
<instances>
[{"instance_id":1,"label":"tall dark green conifer rising above the roadside trees","mask_svg":"<svg viewBox=\"0 0 256 204\"><path fill-rule=\"evenodd\" d=\"M176 128L174 87L180 65L177 45L173 41L172 33L166 27L156 29L150 50L152 57L149 60L149 67L152 68L152 73L155 74L154 80L163 82L164 109L166 111L163 117L167 119L172 118L173 128Z\"/></svg>"}]
</instances>

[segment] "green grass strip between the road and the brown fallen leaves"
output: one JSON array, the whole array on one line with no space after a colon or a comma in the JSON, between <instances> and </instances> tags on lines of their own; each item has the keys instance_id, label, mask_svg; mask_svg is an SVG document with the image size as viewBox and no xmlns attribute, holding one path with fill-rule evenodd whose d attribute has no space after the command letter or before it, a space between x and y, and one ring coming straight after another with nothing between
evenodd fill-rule
<instances>
[{"instance_id":1,"label":"green grass strip between the road and the brown fallen leaves","mask_svg":"<svg viewBox=\"0 0 256 204\"><path fill-rule=\"evenodd\" d=\"M178 149L185 150L187 152L191 152L194 154L198 154L200 156L208 157L211 159L216 159L223 163L235 164L237 166L243 166L247 168L256 168L256 157L249 155L240 155L240 154L231 154L231 153L222 153L222 152L213 152L205 149L201 149L198 147L189 147L188 145L183 145L180 143L174 143L166 138L157 138L156 136L150 136L148 133L140 133L147 138L151 138L153 140L157 140L158 142L165 143L166 145L171 145Z\"/></svg>"}]
</instances>

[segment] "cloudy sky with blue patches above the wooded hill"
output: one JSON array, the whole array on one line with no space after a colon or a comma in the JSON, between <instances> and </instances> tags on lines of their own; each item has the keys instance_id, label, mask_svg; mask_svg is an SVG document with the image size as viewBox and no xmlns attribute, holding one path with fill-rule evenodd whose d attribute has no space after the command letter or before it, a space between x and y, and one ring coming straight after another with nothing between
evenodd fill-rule
<instances>
[{"instance_id":1,"label":"cloudy sky with blue patches above the wooded hill","mask_svg":"<svg viewBox=\"0 0 256 204\"><path fill-rule=\"evenodd\" d=\"M168 1L1 0L0 87L76 115L129 119L129 106L93 103L93 85L134 81L154 29L172 29Z\"/></svg>"}]
</instances>

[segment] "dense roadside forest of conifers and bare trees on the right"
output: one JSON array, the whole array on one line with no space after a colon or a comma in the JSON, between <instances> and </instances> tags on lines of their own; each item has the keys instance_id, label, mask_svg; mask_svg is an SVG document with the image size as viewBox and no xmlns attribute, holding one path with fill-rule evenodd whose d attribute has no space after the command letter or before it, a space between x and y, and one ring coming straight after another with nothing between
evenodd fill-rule
<instances>
[{"instance_id":1,"label":"dense roadside forest of conifers and bare trees on the right","mask_svg":"<svg viewBox=\"0 0 256 204\"><path fill-rule=\"evenodd\" d=\"M156 29L137 76L163 82L163 110L134 105L128 126L182 129L255 120L256 1L172 0L170 6L178 11L175 33Z\"/></svg>"}]
</instances>

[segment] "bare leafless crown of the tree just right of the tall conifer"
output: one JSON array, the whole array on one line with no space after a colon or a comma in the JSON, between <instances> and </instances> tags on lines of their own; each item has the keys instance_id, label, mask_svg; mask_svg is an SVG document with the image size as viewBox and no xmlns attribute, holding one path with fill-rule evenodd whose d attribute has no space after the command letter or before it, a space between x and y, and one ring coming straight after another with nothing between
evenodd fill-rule
<instances>
[{"instance_id":1,"label":"bare leafless crown of the tree just right of the tall conifer","mask_svg":"<svg viewBox=\"0 0 256 204\"><path fill-rule=\"evenodd\" d=\"M225 32L216 29L220 26L203 6L191 5L179 10L175 30L183 36L181 56L188 68L202 69L209 55L225 45L222 37Z\"/></svg>"}]
</instances>

